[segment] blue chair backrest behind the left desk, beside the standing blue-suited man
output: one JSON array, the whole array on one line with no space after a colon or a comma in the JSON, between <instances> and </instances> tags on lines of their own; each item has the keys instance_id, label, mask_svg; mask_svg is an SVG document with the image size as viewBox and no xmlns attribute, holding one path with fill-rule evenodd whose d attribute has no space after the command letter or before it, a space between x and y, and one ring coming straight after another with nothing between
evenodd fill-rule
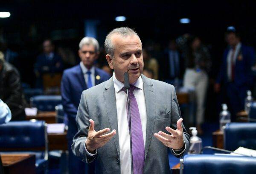
<instances>
[{"instance_id":1,"label":"blue chair backrest behind the left desk, beside the standing blue-suited man","mask_svg":"<svg viewBox=\"0 0 256 174\"><path fill-rule=\"evenodd\" d=\"M55 106L61 104L61 95L37 95L30 98L30 103L39 111L55 111Z\"/></svg>"}]
</instances>

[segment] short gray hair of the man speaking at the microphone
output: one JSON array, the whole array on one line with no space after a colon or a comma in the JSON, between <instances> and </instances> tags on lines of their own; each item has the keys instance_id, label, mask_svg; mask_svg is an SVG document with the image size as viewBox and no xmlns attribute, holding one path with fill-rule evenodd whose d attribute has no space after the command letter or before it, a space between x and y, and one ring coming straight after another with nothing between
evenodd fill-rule
<instances>
[{"instance_id":1,"label":"short gray hair of the man speaking at the microphone","mask_svg":"<svg viewBox=\"0 0 256 174\"><path fill-rule=\"evenodd\" d=\"M106 36L106 40L105 40L105 49L106 49L106 53L109 54L112 58L114 57L114 49L115 46L113 45L112 41L111 41L111 36L113 34L119 34L121 36L131 36L131 35L136 35L138 36L138 34L131 28L129 27L121 27L121 28L115 28L113 29L107 36ZM139 36L138 36L139 37ZM140 38L140 37L139 37Z\"/></svg>"}]
</instances>

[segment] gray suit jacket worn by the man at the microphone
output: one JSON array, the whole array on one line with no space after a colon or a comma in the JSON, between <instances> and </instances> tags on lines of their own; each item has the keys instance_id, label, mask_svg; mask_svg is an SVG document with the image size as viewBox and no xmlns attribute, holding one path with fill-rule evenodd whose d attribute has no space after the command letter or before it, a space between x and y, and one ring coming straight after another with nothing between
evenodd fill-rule
<instances>
[{"instance_id":1,"label":"gray suit jacket worn by the man at the microphone","mask_svg":"<svg viewBox=\"0 0 256 174\"><path fill-rule=\"evenodd\" d=\"M180 108L177 102L175 88L162 81L149 79L144 75L141 76L143 79L147 110L144 174L169 174L171 171L169 167L168 148L154 137L154 133L159 131L169 133L165 129L166 126L177 129L176 123L180 118ZM94 129L96 131L107 127L111 130L116 129L116 135L105 146L98 149L96 157L90 157L84 149L84 142L87 139L90 125L89 119L93 119L95 122ZM76 122L78 132L73 138L73 153L87 163L96 160L96 173L120 174L116 98L113 77L108 81L83 91L76 115ZM189 149L190 141L184 126L183 138L186 144L184 153L186 153Z\"/></svg>"}]
</instances>

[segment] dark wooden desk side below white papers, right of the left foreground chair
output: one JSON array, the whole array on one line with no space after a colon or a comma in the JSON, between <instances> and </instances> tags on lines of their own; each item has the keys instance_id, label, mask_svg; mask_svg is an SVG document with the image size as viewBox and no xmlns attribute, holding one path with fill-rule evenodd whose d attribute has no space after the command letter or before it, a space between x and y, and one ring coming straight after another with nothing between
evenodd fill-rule
<instances>
[{"instance_id":1,"label":"dark wooden desk side below white papers, right of the left foreground chair","mask_svg":"<svg viewBox=\"0 0 256 174\"><path fill-rule=\"evenodd\" d=\"M67 132L48 134L49 151L67 150Z\"/></svg>"}]
</instances>

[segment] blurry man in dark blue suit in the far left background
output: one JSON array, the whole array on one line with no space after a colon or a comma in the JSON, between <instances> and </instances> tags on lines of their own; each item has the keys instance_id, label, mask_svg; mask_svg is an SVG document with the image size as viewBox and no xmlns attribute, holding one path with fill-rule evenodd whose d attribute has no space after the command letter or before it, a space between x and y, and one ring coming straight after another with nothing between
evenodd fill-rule
<instances>
[{"instance_id":1,"label":"blurry man in dark blue suit in the far left background","mask_svg":"<svg viewBox=\"0 0 256 174\"><path fill-rule=\"evenodd\" d=\"M39 55L35 62L36 87L42 87L42 75L45 73L61 73L63 63L61 56L54 52L52 41L47 39L43 43L44 53Z\"/></svg>"}]
</instances>

